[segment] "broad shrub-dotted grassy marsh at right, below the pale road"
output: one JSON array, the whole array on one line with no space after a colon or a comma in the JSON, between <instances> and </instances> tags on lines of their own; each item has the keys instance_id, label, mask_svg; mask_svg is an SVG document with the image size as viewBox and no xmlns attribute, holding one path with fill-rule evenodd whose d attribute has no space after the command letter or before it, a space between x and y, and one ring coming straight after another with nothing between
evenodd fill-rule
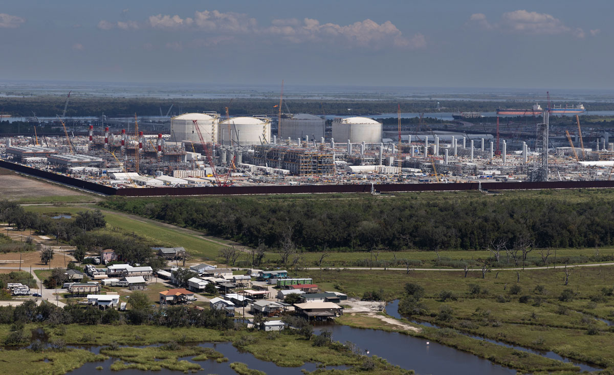
<instances>
[{"instance_id":1,"label":"broad shrub-dotted grassy marsh at right, below the pale road","mask_svg":"<svg viewBox=\"0 0 614 375\"><path fill-rule=\"evenodd\" d=\"M470 272L466 278L462 271L406 274L403 271L333 269L309 274L322 290L341 290L362 296L364 292L381 289L387 299L403 296L406 283L418 284L425 290L419 301L424 311L411 315L414 319L518 346L551 350L614 371L611 355L614 330L593 317L612 319L614 315L614 266L575 268L569 275L569 285L563 282L564 269L500 271L487 273L485 279L481 278L480 271ZM470 292L471 287L475 292L475 285L480 291ZM444 301L442 291L450 292L452 298ZM349 315L339 321L352 323ZM437 330L424 332L430 339L456 345L430 336ZM465 342L465 338L454 339L457 340ZM484 344L479 355L491 359L497 347L489 348ZM524 363L524 359L518 358L518 363Z\"/></svg>"}]
</instances>

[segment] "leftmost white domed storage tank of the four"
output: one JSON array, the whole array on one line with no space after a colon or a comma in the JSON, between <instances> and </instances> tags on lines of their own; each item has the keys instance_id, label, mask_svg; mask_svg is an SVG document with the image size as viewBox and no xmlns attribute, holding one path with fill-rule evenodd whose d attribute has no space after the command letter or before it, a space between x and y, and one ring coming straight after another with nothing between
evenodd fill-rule
<instances>
[{"instance_id":1,"label":"leftmost white domed storage tank of the four","mask_svg":"<svg viewBox=\"0 0 614 375\"><path fill-rule=\"evenodd\" d=\"M182 114L171 118L171 141L200 142L194 120L198 122L198 128L206 143L217 143L220 117L217 114Z\"/></svg>"}]
</instances>

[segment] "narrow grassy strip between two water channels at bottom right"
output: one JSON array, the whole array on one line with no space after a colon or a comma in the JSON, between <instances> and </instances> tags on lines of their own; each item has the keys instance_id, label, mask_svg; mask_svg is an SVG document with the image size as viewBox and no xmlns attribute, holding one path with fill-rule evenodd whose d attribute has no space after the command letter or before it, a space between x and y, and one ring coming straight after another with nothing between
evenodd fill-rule
<instances>
[{"instance_id":1,"label":"narrow grassy strip between two water channels at bottom right","mask_svg":"<svg viewBox=\"0 0 614 375\"><path fill-rule=\"evenodd\" d=\"M385 325L375 317L361 314L346 314L338 319L338 322L354 328L384 330L389 332L399 332L410 334L430 341L439 342L449 347L486 358L499 365L508 366L523 372L556 372L569 371L575 373L578 368L570 363L542 357L541 355L521 352L516 349L492 344L491 342L481 341L454 331L438 330L437 328L424 328L421 332L398 330Z\"/></svg>"}]
</instances>

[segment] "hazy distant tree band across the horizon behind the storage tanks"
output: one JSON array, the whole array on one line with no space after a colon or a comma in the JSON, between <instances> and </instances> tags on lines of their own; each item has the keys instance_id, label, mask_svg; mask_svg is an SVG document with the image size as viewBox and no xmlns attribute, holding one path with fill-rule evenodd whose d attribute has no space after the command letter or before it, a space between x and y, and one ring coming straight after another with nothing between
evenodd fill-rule
<instances>
[{"instance_id":1,"label":"hazy distant tree band across the horizon behind the storage tanks","mask_svg":"<svg viewBox=\"0 0 614 375\"><path fill-rule=\"evenodd\" d=\"M32 111L41 117L55 117L64 110L65 98L58 96L35 96L28 98L2 98L0 103L4 108L4 113L13 116L29 116ZM130 116L134 112L139 115L160 115L160 108L165 109L171 106L181 107L183 112L201 112L203 110L215 110L224 113L228 106L228 99L181 99L181 102L171 99L160 98L86 98L71 96L66 116L92 116L102 115L109 117ZM319 99L289 99L286 101L287 109L293 113L309 114L338 114L338 115L364 115L396 113L397 105L400 104L403 112L435 112L434 100L396 100L379 99L373 100L327 100L324 105ZM475 112L494 112L497 108L528 108L532 103L520 100L509 100L503 102L495 101L467 101L467 100L439 100L440 107L446 111L461 110ZM276 114L274 106L279 103L277 95L271 98L236 98L230 107L231 115L254 115L254 114ZM565 102L553 102L556 105L565 105ZM351 108L351 112L348 111ZM614 110L612 102L593 102L591 110Z\"/></svg>"}]
</instances>

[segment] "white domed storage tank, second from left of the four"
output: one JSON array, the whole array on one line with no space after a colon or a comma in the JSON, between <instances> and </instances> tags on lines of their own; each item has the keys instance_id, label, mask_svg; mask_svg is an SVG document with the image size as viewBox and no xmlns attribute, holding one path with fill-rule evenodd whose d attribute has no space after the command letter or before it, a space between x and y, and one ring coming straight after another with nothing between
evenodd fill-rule
<instances>
[{"instance_id":1,"label":"white domed storage tank, second from left of the four","mask_svg":"<svg viewBox=\"0 0 614 375\"><path fill-rule=\"evenodd\" d=\"M219 142L230 145L228 125L232 137L231 145L253 145L271 142L271 122L255 117L235 117L220 122ZM238 142L238 144L237 144Z\"/></svg>"}]
</instances>

